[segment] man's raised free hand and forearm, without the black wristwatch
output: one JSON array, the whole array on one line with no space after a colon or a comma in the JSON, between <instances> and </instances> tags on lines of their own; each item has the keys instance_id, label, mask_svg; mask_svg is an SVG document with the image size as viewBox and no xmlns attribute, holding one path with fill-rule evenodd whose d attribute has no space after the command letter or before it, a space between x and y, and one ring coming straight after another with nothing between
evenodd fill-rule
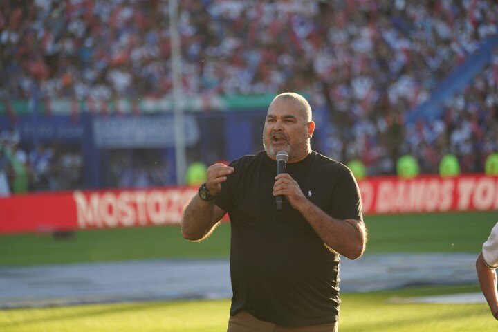
<instances>
[{"instance_id":1,"label":"man's raised free hand and forearm, without the black wristwatch","mask_svg":"<svg viewBox=\"0 0 498 332\"><path fill-rule=\"evenodd\" d=\"M234 172L233 167L223 164L208 167L206 187L212 195L219 194L221 183L226 181L226 176L232 172ZM204 239L214 230L223 215L225 215L225 211L218 208L213 202L203 201L198 195L194 196L183 210L182 236L190 241Z\"/></svg>"}]
</instances>

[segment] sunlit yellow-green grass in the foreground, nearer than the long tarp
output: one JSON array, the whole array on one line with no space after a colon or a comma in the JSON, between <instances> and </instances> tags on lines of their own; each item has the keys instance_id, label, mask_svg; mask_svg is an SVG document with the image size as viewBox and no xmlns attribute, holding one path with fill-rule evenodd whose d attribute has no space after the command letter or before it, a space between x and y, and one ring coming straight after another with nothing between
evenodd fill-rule
<instances>
[{"instance_id":1,"label":"sunlit yellow-green grass in the foreground, nearer than the long tarp","mask_svg":"<svg viewBox=\"0 0 498 332\"><path fill-rule=\"evenodd\" d=\"M341 332L489 332L498 322L486 304L394 304L393 297L478 291L477 286L342 294ZM230 301L97 304L0 311L0 332L219 332Z\"/></svg>"}]
</instances>

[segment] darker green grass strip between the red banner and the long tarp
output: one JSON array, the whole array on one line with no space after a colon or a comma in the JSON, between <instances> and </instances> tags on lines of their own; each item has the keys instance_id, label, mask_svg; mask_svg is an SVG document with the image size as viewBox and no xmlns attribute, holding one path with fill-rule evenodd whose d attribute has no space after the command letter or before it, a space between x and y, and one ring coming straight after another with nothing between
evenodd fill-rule
<instances>
[{"instance_id":1,"label":"darker green grass strip between the red banner and the long tarp","mask_svg":"<svg viewBox=\"0 0 498 332\"><path fill-rule=\"evenodd\" d=\"M387 252L479 252L498 212L366 216L366 255ZM0 236L0 266L160 258L228 257L230 225L200 243L185 241L178 226L83 230L74 239L50 234Z\"/></svg>"}]
</instances>

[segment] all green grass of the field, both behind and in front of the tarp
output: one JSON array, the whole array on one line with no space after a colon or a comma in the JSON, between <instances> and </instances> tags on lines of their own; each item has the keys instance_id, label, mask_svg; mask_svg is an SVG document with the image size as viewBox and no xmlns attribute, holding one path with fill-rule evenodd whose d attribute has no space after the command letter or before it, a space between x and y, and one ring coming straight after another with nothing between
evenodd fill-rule
<instances>
[{"instance_id":1,"label":"all green grass of the field, both behind and in front of the tarp","mask_svg":"<svg viewBox=\"0 0 498 332\"><path fill-rule=\"evenodd\" d=\"M481 250L498 212L367 216L365 255L390 252ZM159 258L228 257L230 226L201 243L181 238L176 226L86 230L73 239L48 234L0 236L0 266ZM479 286L405 288L343 293L340 331L494 331L486 304L394 304L393 297L479 291ZM0 332L226 331L228 300L95 304L0 311Z\"/></svg>"}]
</instances>

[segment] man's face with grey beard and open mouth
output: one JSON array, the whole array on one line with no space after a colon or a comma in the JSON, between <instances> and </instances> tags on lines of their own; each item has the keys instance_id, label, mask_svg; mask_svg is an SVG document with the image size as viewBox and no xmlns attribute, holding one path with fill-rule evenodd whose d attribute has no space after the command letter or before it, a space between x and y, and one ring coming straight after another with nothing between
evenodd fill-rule
<instances>
[{"instance_id":1,"label":"man's face with grey beard and open mouth","mask_svg":"<svg viewBox=\"0 0 498 332\"><path fill-rule=\"evenodd\" d=\"M314 123L306 123L301 105L292 99L277 99L268 109L263 129L263 146L273 160L278 151L286 151L289 162L302 160L310 152L309 139Z\"/></svg>"}]
</instances>

